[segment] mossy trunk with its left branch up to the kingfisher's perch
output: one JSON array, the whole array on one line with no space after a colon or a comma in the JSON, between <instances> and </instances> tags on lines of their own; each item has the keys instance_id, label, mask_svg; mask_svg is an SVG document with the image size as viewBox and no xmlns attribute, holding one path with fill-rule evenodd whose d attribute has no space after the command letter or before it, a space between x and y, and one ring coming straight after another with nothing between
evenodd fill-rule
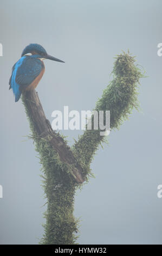
<instances>
[{"instance_id":1,"label":"mossy trunk with its left branch up to the kingfisher's perch","mask_svg":"<svg viewBox=\"0 0 162 256\"><path fill-rule=\"evenodd\" d=\"M67 150L69 150L67 142L60 135L51 131L42 106L39 106L40 102L37 100L35 91L22 94L22 101L32 132L30 137L34 139L35 149L40 155L40 163L43 167L41 176L48 203L47 211L44 214L46 224L44 224L44 236L41 243L73 244L77 237L78 222L73 216L74 195L79 184L73 175L75 166L66 161L67 157L62 157L62 155L67 155ZM59 155L61 146L63 152Z\"/></svg>"}]
</instances>

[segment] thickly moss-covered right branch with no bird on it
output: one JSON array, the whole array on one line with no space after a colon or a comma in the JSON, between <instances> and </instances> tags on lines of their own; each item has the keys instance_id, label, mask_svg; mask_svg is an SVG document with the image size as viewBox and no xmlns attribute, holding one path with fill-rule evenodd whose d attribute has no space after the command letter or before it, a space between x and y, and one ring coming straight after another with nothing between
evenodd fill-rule
<instances>
[{"instance_id":1,"label":"thickly moss-covered right branch with no bird on it","mask_svg":"<svg viewBox=\"0 0 162 256\"><path fill-rule=\"evenodd\" d=\"M103 90L102 97L96 102L96 111L110 111L110 126L118 129L122 122L128 118L133 108L138 108L139 79L144 77L135 59L129 52L116 57L113 68L113 80ZM80 159L80 164L86 166L84 174L89 174L89 165L99 145L104 141L100 130L86 130L79 141L73 146L75 157Z\"/></svg>"}]
</instances>

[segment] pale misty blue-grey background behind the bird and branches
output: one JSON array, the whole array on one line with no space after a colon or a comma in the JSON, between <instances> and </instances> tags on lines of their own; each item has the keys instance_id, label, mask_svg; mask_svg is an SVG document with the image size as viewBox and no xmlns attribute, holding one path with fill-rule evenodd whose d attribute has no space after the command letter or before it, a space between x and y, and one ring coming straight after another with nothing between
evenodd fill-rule
<instances>
[{"instance_id":1,"label":"pale misty blue-grey background behind the bird and branches","mask_svg":"<svg viewBox=\"0 0 162 256\"><path fill-rule=\"evenodd\" d=\"M66 63L45 60L38 84L47 118L93 109L110 76L116 54L129 48L147 71L141 79L142 112L133 111L109 146L99 149L90 179L75 197L81 244L161 243L161 0L0 1L1 172L0 243L35 244L43 235L41 165L29 135L21 100L9 91L11 68L29 43L38 43ZM69 144L82 131L62 131Z\"/></svg>"}]
</instances>

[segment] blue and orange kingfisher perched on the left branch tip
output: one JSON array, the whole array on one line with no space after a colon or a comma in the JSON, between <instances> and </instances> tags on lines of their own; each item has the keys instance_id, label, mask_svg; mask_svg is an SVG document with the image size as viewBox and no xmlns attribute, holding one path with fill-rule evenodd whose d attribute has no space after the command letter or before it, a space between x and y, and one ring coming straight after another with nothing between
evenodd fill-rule
<instances>
[{"instance_id":1,"label":"blue and orange kingfisher perched on the left branch tip","mask_svg":"<svg viewBox=\"0 0 162 256\"><path fill-rule=\"evenodd\" d=\"M20 99L23 91L36 88L44 74L44 59L63 62L61 59L50 56L43 46L39 44L29 44L24 48L21 58L12 68L12 74L9 81L9 89L12 88L13 90L15 102Z\"/></svg>"}]
</instances>

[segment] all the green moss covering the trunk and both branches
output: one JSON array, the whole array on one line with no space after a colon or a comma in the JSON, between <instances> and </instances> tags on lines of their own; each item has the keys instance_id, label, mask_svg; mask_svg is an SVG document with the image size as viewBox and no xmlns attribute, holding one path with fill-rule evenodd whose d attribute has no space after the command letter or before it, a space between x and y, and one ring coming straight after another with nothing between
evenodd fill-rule
<instances>
[{"instance_id":1,"label":"all the green moss covering the trunk and both branches","mask_svg":"<svg viewBox=\"0 0 162 256\"><path fill-rule=\"evenodd\" d=\"M139 79L144 75L141 74L134 62L135 59L129 52L124 52L116 57L112 72L113 80L109 82L107 88L103 90L102 97L96 102L96 111L110 111L111 129L119 129L123 121L131 114L132 109L138 109ZM74 180L70 167L60 161L48 139L37 135L24 95L22 95L22 101L29 119L31 137L34 139L36 151L40 155L40 163L43 167L43 188L48 204L44 214L46 218L44 235L40 243L74 244L78 231L78 220L73 216L74 195L80 186ZM83 168L83 174L87 177L87 181L89 176L93 175L90 163L99 145L103 142L105 142L105 138L100 136L100 130L86 130L72 147L76 163Z\"/></svg>"}]
</instances>

